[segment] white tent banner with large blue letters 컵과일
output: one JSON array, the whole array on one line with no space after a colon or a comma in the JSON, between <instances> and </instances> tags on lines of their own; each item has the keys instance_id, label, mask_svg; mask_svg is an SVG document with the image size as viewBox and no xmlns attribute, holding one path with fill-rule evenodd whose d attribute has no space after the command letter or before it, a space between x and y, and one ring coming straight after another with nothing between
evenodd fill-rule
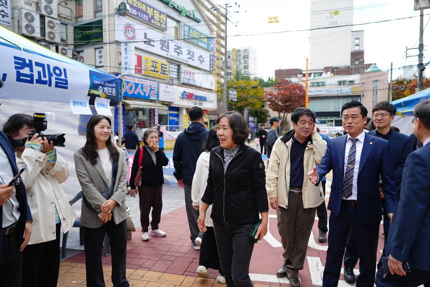
<instances>
[{"instance_id":1,"label":"white tent banner with large blue letters \ucef5\uacfc\uc77c","mask_svg":"<svg viewBox=\"0 0 430 287\"><path fill-rule=\"evenodd\" d=\"M0 26L0 97L69 103L76 96L121 100L117 77L84 65Z\"/></svg>"}]
</instances>

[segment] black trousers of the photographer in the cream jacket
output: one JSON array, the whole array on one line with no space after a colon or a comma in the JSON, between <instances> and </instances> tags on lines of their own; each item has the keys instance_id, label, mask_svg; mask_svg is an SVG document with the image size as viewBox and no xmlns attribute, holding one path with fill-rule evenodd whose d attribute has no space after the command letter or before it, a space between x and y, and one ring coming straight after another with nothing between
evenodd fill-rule
<instances>
[{"instance_id":1,"label":"black trousers of the photographer in the cream jacket","mask_svg":"<svg viewBox=\"0 0 430 287\"><path fill-rule=\"evenodd\" d=\"M56 239L27 245L23 251L23 286L57 287L60 270L60 229L56 225Z\"/></svg>"}]
</instances>

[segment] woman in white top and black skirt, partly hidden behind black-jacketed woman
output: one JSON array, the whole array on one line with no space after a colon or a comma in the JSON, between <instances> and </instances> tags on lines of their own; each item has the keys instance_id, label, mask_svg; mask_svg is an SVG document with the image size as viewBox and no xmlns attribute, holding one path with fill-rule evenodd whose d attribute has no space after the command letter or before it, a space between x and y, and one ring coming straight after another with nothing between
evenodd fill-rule
<instances>
[{"instance_id":1,"label":"woman in white top and black skirt, partly hidden behind black-jacketed woman","mask_svg":"<svg viewBox=\"0 0 430 287\"><path fill-rule=\"evenodd\" d=\"M216 135L216 130L209 130L206 140L203 142L203 152L200 154L197 160L196 172L193 177L193 184L191 187L191 199L193 200L193 207L199 210L199 205L201 205L201 198L206 189L206 184L208 181L209 174L209 159L211 154L211 149L219 146L219 140ZM215 241L215 233L213 228L213 222L211 219L211 206L209 206L206 211L205 224L207 231L203 233L199 267L197 268L197 274L200 277L209 277L208 268L219 270L220 274L216 280L224 284L225 278L221 271L221 264L219 262L218 249Z\"/></svg>"}]
</instances>

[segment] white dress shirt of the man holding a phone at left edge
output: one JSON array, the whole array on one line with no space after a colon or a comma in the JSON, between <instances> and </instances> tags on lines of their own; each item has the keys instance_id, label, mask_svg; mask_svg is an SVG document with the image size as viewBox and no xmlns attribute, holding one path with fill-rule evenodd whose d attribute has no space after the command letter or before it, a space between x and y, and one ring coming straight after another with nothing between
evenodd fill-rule
<instances>
[{"instance_id":1,"label":"white dress shirt of the man holding a phone at left edge","mask_svg":"<svg viewBox=\"0 0 430 287\"><path fill-rule=\"evenodd\" d=\"M2 167L0 168L0 183L9 183L14 178L14 173L12 171L8 155L2 147L0 147L0 166ZM3 228L14 224L20 218L20 203L16 196L17 191L14 190L14 195L12 195L12 197L3 204Z\"/></svg>"}]
</instances>

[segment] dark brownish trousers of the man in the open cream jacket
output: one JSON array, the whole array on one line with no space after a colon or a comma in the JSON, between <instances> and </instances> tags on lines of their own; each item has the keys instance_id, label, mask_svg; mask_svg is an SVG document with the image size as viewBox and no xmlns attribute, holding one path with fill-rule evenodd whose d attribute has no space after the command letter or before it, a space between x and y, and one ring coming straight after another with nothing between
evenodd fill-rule
<instances>
[{"instance_id":1,"label":"dark brownish trousers of the man in the open cream jacket","mask_svg":"<svg viewBox=\"0 0 430 287\"><path fill-rule=\"evenodd\" d=\"M288 208L279 207L278 231L284 252L285 272L290 278L297 278L303 269L307 242L315 221L315 208L303 208L301 193L288 193Z\"/></svg>"}]
</instances>

